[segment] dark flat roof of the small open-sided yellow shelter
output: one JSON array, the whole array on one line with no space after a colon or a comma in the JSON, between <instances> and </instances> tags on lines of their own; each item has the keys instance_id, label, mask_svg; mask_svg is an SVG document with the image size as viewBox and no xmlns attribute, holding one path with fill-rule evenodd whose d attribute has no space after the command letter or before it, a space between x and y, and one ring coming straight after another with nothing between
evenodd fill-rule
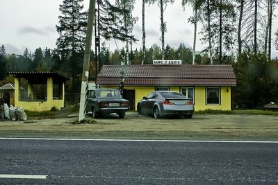
<instances>
[{"instance_id":1,"label":"dark flat roof of the small open-sided yellow shelter","mask_svg":"<svg viewBox=\"0 0 278 185\"><path fill-rule=\"evenodd\" d=\"M25 78L26 80L34 84L45 83L47 82L47 78L50 77L53 78L54 83L60 83L69 80L65 76L61 76L60 74L55 72L9 72L9 73L16 78Z\"/></svg>"}]
</instances>

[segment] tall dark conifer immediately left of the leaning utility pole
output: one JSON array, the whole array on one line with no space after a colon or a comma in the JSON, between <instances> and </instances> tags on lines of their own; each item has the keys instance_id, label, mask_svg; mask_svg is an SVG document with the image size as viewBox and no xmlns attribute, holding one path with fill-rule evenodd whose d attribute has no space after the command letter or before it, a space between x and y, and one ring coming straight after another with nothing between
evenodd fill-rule
<instances>
[{"instance_id":1,"label":"tall dark conifer immediately left of the leaning utility pole","mask_svg":"<svg viewBox=\"0 0 278 185\"><path fill-rule=\"evenodd\" d=\"M58 17L56 30L59 37L56 42L56 53L60 66L65 68L65 75L72 77L72 87L76 87L76 76L81 73L83 51L85 48L85 32L88 12L83 12L83 0L63 0L60 5L62 15ZM61 70L61 69L60 69ZM72 89L79 91L79 89Z\"/></svg>"}]
</instances>

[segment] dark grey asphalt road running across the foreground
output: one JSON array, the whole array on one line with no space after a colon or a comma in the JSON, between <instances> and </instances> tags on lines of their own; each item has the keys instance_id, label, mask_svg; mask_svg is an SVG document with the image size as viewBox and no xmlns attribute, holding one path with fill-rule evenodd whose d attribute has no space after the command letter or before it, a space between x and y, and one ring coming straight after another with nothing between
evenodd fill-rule
<instances>
[{"instance_id":1,"label":"dark grey asphalt road running across the foreground","mask_svg":"<svg viewBox=\"0 0 278 185\"><path fill-rule=\"evenodd\" d=\"M278 143L0 139L0 184L278 184Z\"/></svg>"}]
</instances>

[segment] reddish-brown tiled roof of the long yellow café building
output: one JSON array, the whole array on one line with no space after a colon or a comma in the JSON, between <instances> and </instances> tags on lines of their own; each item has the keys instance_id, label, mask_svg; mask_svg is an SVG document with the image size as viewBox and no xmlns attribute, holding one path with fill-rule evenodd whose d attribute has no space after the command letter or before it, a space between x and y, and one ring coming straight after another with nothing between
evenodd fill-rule
<instances>
[{"instance_id":1,"label":"reddish-brown tiled roof of the long yellow caf\u00e9 building","mask_svg":"<svg viewBox=\"0 0 278 185\"><path fill-rule=\"evenodd\" d=\"M122 66L103 66L99 85L118 85ZM231 65L129 65L124 66L124 85L236 86Z\"/></svg>"}]
</instances>

